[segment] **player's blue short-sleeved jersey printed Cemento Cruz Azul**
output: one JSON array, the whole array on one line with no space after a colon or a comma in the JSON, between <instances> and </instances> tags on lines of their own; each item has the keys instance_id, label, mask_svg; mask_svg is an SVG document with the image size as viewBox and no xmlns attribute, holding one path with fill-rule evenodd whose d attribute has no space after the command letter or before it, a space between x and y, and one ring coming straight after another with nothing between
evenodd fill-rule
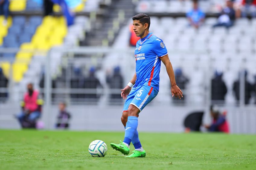
<instances>
[{"instance_id":1,"label":"player's blue short-sleeved jersey printed Cemento Cruz Azul","mask_svg":"<svg viewBox=\"0 0 256 170\"><path fill-rule=\"evenodd\" d=\"M136 75L133 88L149 85L159 91L160 57L167 54L164 42L157 36L149 33L136 43Z\"/></svg>"}]
</instances>

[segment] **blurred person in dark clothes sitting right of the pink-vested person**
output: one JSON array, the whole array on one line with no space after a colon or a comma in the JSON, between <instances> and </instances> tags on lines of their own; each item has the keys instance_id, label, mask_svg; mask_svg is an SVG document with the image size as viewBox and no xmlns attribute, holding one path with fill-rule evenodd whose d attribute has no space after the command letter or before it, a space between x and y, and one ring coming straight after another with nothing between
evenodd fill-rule
<instances>
[{"instance_id":1,"label":"blurred person in dark clothes sitting right of the pink-vested person","mask_svg":"<svg viewBox=\"0 0 256 170\"><path fill-rule=\"evenodd\" d=\"M59 115L57 116L56 128L69 128L70 114L66 111L66 103L59 103Z\"/></svg>"}]
</instances>

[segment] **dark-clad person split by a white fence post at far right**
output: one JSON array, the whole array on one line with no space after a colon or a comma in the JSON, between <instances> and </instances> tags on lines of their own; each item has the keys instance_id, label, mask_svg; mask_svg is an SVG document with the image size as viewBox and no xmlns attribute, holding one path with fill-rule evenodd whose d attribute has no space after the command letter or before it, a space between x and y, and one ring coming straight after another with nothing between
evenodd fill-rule
<instances>
[{"instance_id":1,"label":"dark-clad person split by a white fence post at far right","mask_svg":"<svg viewBox=\"0 0 256 170\"><path fill-rule=\"evenodd\" d=\"M247 80L247 71L242 72L245 74L245 104L249 104L249 100L251 98L251 93L253 92L253 87L250 82ZM238 80L236 80L233 83L233 91L235 93L235 98L237 100L237 103L239 103L240 100L240 74L238 76Z\"/></svg>"}]
</instances>

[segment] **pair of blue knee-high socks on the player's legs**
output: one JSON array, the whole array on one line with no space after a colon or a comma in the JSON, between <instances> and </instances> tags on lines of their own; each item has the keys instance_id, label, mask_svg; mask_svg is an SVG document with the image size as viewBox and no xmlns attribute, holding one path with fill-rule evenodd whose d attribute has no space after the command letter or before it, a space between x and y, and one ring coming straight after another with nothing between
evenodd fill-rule
<instances>
[{"instance_id":1,"label":"pair of blue knee-high socks on the player's legs","mask_svg":"<svg viewBox=\"0 0 256 170\"><path fill-rule=\"evenodd\" d=\"M133 142L135 149L141 147L137 127L138 127L138 117L128 116L123 142L128 145L130 145L131 142Z\"/></svg>"}]
</instances>

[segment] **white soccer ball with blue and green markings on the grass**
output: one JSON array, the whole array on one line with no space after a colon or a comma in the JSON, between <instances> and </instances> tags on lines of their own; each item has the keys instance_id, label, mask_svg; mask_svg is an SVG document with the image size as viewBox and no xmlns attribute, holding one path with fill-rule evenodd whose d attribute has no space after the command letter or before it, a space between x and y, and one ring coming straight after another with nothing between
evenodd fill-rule
<instances>
[{"instance_id":1,"label":"white soccer ball with blue and green markings on the grass","mask_svg":"<svg viewBox=\"0 0 256 170\"><path fill-rule=\"evenodd\" d=\"M88 149L93 157L103 157L107 153L107 145L101 140L92 141Z\"/></svg>"}]
</instances>

